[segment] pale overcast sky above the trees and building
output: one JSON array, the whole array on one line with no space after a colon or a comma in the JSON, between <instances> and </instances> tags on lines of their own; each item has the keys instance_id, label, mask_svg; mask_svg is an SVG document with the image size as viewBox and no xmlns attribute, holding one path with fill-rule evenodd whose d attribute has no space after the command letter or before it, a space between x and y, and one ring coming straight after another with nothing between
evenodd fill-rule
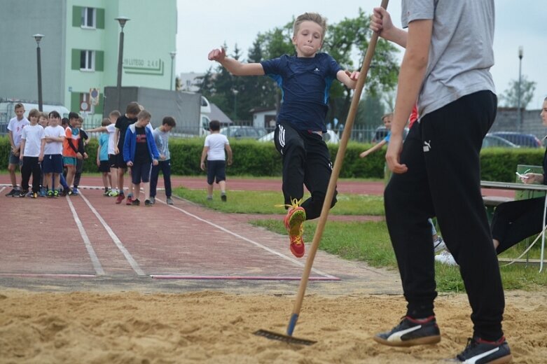
<instances>
[{"instance_id":1,"label":"pale overcast sky above the trees and building","mask_svg":"<svg viewBox=\"0 0 547 364\"><path fill-rule=\"evenodd\" d=\"M309 12L321 13L334 24L355 18L359 7L370 14L380 0L177 0L176 73L202 73L214 65L207 53L226 43L237 43L244 59L258 33L281 27L293 17ZM492 75L498 94L511 80L518 80L518 48L522 45L522 75L536 82L534 99L527 109L541 109L547 96L547 2L545 0L495 0L496 32ZM395 25L401 26L401 1L392 0L388 10ZM328 33L326 34L328 36ZM230 52L230 50L228 50ZM401 58L403 50L399 53Z\"/></svg>"}]
</instances>

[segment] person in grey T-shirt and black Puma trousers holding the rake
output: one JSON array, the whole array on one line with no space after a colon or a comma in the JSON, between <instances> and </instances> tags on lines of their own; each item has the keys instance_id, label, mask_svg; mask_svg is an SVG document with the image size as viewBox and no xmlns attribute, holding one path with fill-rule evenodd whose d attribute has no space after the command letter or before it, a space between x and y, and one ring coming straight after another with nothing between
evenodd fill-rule
<instances>
[{"instance_id":1,"label":"person in grey T-shirt and black Puma trousers holding the rake","mask_svg":"<svg viewBox=\"0 0 547 364\"><path fill-rule=\"evenodd\" d=\"M471 305L473 335L452 361L508 363L504 288L480 195L480 148L494 122L494 0L402 1L403 31L375 8L371 29L406 48L386 161L394 172L384 193L389 237L399 265L406 314L375 341L435 344L434 250L427 218L437 217L459 265ZM469 41L472 39L473 41ZM420 123L403 128L417 100Z\"/></svg>"}]
</instances>

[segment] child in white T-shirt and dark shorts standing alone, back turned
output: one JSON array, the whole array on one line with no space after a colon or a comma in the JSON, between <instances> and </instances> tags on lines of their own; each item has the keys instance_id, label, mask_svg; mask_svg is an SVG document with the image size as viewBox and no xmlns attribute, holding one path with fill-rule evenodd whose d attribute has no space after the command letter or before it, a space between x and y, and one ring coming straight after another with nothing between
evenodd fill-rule
<instances>
[{"instance_id":1,"label":"child in white T-shirt and dark shorts standing alone, back turned","mask_svg":"<svg viewBox=\"0 0 547 364\"><path fill-rule=\"evenodd\" d=\"M226 155L228 153L228 165L232 165L232 148L226 135L220 133L221 123L212 120L209 123L211 134L205 137L205 146L201 153L200 168L205 171L205 158L207 157L207 200L213 200L213 183L221 188L221 201L226 202Z\"/></svg>"}]
</instances>

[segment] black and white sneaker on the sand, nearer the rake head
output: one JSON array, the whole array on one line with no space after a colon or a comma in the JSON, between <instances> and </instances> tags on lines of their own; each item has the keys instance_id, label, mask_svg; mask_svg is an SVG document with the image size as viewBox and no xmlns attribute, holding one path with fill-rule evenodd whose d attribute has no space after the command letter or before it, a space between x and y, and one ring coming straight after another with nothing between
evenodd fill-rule
<instances>
[{"instance_id":1,"label":"black and white sneaker on the sand, nearer the rake head","mask_svg":"<svg viewBox=\"0 0 547 364\"><path fill-rule=\"evenodd\" d=\"M441 332L438 330L435 316L428 318L405 316L391 331L377 334L374 341L389 346L436 344L441 341Z\"/></svg>"}]
</instances>

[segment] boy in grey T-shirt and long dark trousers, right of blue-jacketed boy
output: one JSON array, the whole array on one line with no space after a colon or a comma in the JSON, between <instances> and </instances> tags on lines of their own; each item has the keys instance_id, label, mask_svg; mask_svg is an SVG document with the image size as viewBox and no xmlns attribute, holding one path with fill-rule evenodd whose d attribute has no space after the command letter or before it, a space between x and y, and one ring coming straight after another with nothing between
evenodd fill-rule
<instances>
[{"instance_id":1,"label":"boy in grey T-shirt and long dark trousers, right of blue-jacketed boy","mask_svg":"<svg viewBox=\"0 0 547 364\"><path fill-rule=\"evenodd\" d=\"M155 146L160 153L158 165L152 166L152 174L150 177L150 200L155 203L156 186L158 186L158 177L160 169L163 174L163 184L165 186L165 196L167 204L173 204L171 198L171 153L169 153L169 133L176 126L176 122L172 116L165 116L162 120L162 125L156 127L153 135Z\"/></svg>"}]
</instances>

